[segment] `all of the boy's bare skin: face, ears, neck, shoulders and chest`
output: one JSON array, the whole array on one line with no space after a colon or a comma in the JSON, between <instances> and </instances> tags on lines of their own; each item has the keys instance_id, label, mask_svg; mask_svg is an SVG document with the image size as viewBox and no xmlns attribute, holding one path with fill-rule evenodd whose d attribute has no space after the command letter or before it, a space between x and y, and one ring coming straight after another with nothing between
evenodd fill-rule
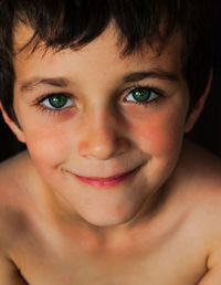
<instances>
[{"instance_id":1,"label":"all of the boy's bare skin: face, ears, neck, shoulders and chest","mask_svg":"<svg viewBox=\"0 0 221 285\"><path fill-rule=\"evenodd\" d=\"M32 33L19 27L14 50ZM182 145L209 85L187 117L179 34L161 55L144 46L122 57L116 43L110 24L78 51L44 53L41 45L13 59L21 128L1 109L28 152L0 166L4 284L24 284L22 278L31 285L218 284L220 161ZM131 76L144 71L148 76ZM39 77L56 83L40 84ZM131 97L137 86L157 93L147 104L137 104ZM40 103L42 95L53 93L69 94L69 106L54 113L46 99ZM75 177L107 178L137 167L108 187ZM10 283L18 268L20 276Z\"/></svg>"}]
</instances>

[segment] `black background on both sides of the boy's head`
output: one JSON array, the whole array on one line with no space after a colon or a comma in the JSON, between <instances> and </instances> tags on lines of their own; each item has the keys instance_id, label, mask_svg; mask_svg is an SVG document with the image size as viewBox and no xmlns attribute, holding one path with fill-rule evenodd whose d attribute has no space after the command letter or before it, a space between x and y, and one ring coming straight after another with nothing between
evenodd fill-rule
<instances>
[{"instance_id":1,"label":"black background on both sides of the boy's head","mask_svg":"<svg viewBox=\"0 0 221 285\"><path fill-rule=\"evenodd\" d=\"M188 137L221 158L221 1L214 2L213 82L206 107ZM24 149L0 115L0 161Z\"/></svg>"}]
</instances>

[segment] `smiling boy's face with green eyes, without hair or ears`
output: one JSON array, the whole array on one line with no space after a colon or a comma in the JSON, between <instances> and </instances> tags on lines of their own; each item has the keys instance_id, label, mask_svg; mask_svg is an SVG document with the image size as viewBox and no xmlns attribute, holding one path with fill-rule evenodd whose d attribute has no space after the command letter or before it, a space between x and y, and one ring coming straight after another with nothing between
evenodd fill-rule
<instances>
[{"instance_id":1,"label":"smiling boy's face with green eyes, without hair or ears","mask_svg":"<svg viewBox=\"0 0 221 285\"><path fill-rule=\"evenodd\" d=\"M30 35L21 28L15 42ZM14 59L20 139L54 204L97 225L133 219L171 175L189 103L179 36L160 56L145 46L120 57L116 40L109 27L80 51ZM42 98L50 94L57 96Z\"/></svg>"}]
</instances>

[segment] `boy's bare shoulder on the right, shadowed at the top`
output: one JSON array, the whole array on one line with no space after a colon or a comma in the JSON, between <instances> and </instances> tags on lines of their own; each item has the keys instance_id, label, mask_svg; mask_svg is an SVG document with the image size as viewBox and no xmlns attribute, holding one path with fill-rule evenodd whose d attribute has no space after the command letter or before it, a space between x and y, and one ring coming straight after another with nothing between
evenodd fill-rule
<instances>
[{"instance_id":1,"label":"boy's bare shoulder on the right, shadowed at the top","mask_svg":"<svg viewBox=\"0 0 221 285\"><path fill-rule=\"evenodd\" d=\"M206 149L186 142L180 165L179 199L187 204L191 221L202 230L202 235L208 235L210 244L215 239L220 243L221 160Z\"/></svg>"}]
</instances>

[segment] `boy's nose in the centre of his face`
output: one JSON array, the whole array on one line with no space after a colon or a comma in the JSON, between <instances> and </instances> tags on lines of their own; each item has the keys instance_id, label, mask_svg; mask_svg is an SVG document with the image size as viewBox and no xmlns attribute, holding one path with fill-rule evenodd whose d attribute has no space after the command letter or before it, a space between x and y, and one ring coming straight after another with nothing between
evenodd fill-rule
<instances>
[{"instance_id":1,"label":"boy's nose in the centre of his face","mask_svg":"<svg viewBox=\"0 0 221 285\"><path fill-rule=\"evenodd\" d=\"M107 160L129 149L130 141L124 135L123 122L115 115L93 114L84 123L77 146L80 156Z\"/></svg>"}]
</instances>

